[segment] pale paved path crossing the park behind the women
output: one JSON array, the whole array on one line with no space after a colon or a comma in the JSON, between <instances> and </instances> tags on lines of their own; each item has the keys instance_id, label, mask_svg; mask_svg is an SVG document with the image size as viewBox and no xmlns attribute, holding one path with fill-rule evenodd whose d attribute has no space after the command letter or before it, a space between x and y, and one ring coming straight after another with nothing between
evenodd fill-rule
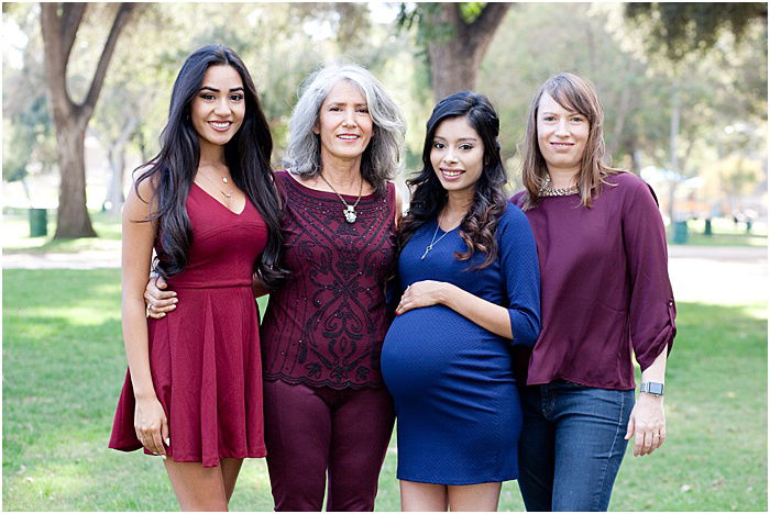
<instances>
[{"instance_id":1,"label":"pale paved path crossing the park behind the women","mask_svg":"<svg viewBox=\"0 0 770 514\"><path fill-rule=\"evenodd\" d=\"M3 269L120 267L120 249L78 254L12 254ZM768 298L768 249L755 246L669 246L669 273L680 302L746 304Z\"/></svg>"}]
</instances>

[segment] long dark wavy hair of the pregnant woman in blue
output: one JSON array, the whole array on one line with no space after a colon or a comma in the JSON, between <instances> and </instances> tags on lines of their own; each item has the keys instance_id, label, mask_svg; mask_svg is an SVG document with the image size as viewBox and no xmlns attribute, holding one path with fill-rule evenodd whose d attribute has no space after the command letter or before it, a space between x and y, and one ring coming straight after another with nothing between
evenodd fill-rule
<instances>
[{"instance_id":1,"label":"long dark wavy hair of the pregnant woman in blue","mask_svg":"<svg viewBox=\"0 0 770 514\"><path fill-rule=\"evenodd\" d=\"M400 247L406 245L420 226L438 219L447 204L447 190L441 186L430 163L430 150L441 122L461 116L468 120L484 143L484 167L475 185L473 203L460 224L460 237L468 246L468 250L455 252L454 257L458 260L469 260L475 252L482 252L486 254L486 259L472 268L481 269L490 266L497 258L495 231L501 215L505 212L507 200L503 186L508 178L497 141L499 119L490 100L475 92L462 91L444 98L436 104L433 113L426 123L422 169L406 182L414 191L409 211L402 222Z\"/></svg>"}]
</instances>

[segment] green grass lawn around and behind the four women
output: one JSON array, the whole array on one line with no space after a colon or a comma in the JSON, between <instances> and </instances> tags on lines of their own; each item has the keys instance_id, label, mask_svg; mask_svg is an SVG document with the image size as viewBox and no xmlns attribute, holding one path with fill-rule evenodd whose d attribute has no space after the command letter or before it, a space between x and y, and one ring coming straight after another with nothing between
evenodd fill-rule
<instances>
[{"instance_id":1,"label":"green grass lawn around and behind the four women","mask_svg":"<svg viewBox=\"0 0 770 514\"><path fill-rule=\"evenodd\" d=\"M178 510L157 458L107 448L125 372L119 270L3 279L4 510ZM678 325L668 440L649 457L629 450L610 510L767 511L767 305L681 303ZM399 509L395 466L392 448L378 511ZM272 505L264 460L248 460L231 509ZM507 482L501 510L522 509Z\"/></svg>"}]
</instances>

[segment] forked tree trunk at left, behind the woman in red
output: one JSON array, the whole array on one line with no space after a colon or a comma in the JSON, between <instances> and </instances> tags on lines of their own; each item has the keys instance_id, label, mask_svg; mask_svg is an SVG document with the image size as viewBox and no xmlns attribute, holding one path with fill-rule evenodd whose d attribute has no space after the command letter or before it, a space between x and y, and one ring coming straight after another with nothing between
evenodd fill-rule
<instances>
[{"instance_id":1,"label":"forked tree trunk at left, behind the woman in red","mask_svg":"<svg viewBox=\"0 0 770 514\"><path fill-rule=\"evenodd\" d=\"M56 127L56 147L62 178L55 239L96 237L86 208L84 142L88 121L105 82L118 36L132 10L132 3L122 3L118 8L86 99L82 103L76 104L67 91L67 64L86 4L41 3L41 32L48 105Z\"/></svg>"}]
</instances>

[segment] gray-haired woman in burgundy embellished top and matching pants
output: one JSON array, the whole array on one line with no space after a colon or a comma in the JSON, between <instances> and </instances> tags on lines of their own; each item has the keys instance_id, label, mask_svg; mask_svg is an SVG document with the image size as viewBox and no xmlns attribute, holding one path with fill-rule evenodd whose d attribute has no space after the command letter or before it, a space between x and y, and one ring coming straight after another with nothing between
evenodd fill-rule
<instances>
[{"instance_id":1,"label":"gray-haired woman in burgundy embellished top and matching pants","mask_svg":"<svg viewBox=\"0 0 770 514\"><path fill-rule=\"evenodd\" d=\"M284 284L261 328L265 443L276 511L373 511L394 407L380 369L406 124L358 65L308 77L289 122ZM148 286L152 315L173 310ZM157 314L161 313L161 314Z\"/></svg>"}]
</instances>

